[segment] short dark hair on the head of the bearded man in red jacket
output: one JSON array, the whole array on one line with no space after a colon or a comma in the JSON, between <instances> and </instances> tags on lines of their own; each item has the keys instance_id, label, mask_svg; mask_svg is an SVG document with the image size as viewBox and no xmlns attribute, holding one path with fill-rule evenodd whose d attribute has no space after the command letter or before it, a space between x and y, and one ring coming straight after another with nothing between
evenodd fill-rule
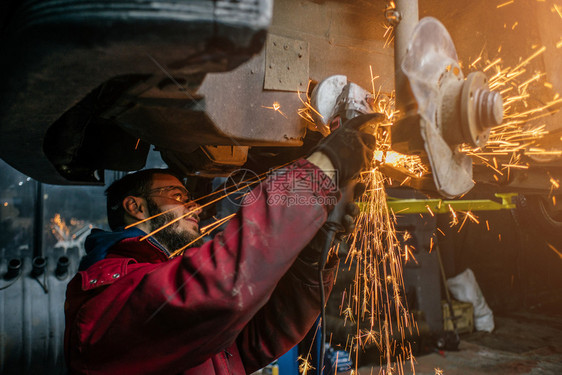
<instances>
[{"instance_id":1,"label":"short dark hair on the head of the bearded man in red jacket","mask_svg":"<svg viewBox=\"0 0 562 375\"><path fill-rule=\"evenodd\" d=\"M145 196L152 186L152 180L156 174L168 174L182 178L169 169L144 169L114 181L106 190L107 196L107 222L111 230L117 230L125 225L125 209L123 199L129 195Z\"/></svg>"}]
</instances>

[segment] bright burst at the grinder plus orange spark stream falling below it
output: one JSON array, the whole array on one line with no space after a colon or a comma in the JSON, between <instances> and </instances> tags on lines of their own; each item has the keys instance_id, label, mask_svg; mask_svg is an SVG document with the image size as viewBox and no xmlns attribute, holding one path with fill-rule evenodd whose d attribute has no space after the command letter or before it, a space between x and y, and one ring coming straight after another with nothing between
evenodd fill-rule
<instances>
[{"instance_id":1,"label":"bright burst at the grinder plus orange spark stream falling below it","mask_svg":"<svg viewBox=\"0 0 562 375\"><path fill-rule=\"evenodd\" d=\"M360 350L377 347L382 362L386 363L384 374L403 373L406 359L414 366L410 346L405 345L406 335L417 332L413 316L408 312L405 301L402 267L405 262L417 263L411 247L400 245L394 228L395 216L387 206L384 185L388 180L380 168L392 166L412 177L428 173L427 167L418 156L408 156L391 151L389 127L396 116L395 95L376 89L371 72L373 110L385 115L377 129L377 149L373 155L372 166L362 173L361 180L366 185L367 194L360 202L365 209L360 213L355 231L350 235L350 250L345 260L349 269L354 267L355 277L349 292L344 294L340 314L345 321L356 324L353 337L348 338L346 349L355 353L358 365ZM299 95L300 98L300 95ZM310 98L307 98L308 101ZM302 99L304 108L299 115L313 119L314 109ZM403 234L404 238L409 233ZM305 358L300 358L300 370L310 370ZM357 372L357 368L354 372Z\"/></svg>"}]
</instances>

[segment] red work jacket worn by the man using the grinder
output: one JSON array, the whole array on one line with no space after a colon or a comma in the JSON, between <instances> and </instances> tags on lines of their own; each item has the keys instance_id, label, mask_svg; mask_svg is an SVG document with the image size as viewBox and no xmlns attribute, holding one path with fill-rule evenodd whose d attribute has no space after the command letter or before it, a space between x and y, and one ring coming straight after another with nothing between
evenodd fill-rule
<instances>
[{"instance_id":1,"label":"red work jacket worn by the man using the grinder","mask_svg":"<svg viewBox=\"0 0 562 375\"><path fill-rule=\"evenodd\" d=\"M299 254L325 222L335 190L300 160L268 177L222 233L183 256L168 259L140 237L113 245L68 285L70 372L247 374L281 356L320 312L316 265ZM287 204L295 194L300 203ZM327 292L333 263L324 272Z\"/></svg>"}]
</instances>

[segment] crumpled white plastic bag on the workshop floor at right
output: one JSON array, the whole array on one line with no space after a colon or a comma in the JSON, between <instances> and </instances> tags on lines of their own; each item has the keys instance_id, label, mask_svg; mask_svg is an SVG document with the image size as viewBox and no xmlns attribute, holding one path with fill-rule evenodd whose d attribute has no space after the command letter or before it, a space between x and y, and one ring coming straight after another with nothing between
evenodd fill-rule
<instances>
[{"instance_id":1,"label":"crumpled white plastic bag on the workshop floor at right","mask_svg":"<svg viewBox=\"0 0 562 375\"><path fill-rule=\"evenodd\" d=\"M447 286L455 299L472 303L472 306L474 306L474 327L477 331L492 332L494 330L494 314L486 303L470 268L455 277L447 279Z\"/></svg>"}]
</instances>

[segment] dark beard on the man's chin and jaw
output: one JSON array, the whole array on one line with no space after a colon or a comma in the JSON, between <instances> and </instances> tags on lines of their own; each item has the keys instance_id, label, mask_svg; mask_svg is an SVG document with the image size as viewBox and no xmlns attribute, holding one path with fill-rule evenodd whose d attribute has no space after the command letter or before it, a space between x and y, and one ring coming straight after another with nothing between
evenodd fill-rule
<instances>
[{"instance_id":1,"label":"dark beard on the man's chin and jaw","mask_svg":"<svg viewBox=\"0 0 562 375\"><path fill-rule=\"evenodd\" d=\"M158 215L155 218L150 220L150 231L153 232L157 229L162 228L172 220L176 219L177 217L173 214L173 212L166 212L163 214L162 210L158 208L156 203L150 198L147 199L147 208L148 214L150 216ZM182 219L180 219L182 220ZM181 249L185 245L190 242L193 242L189 247L199 247L203 244L203 239L199 238L196 240L197 237L200 237L199 234L190 233L186 230L179 231L178 228L180 226L179 220L175 223L168 225L164 229L154 233L152 236L160 242L164 247L170 252L173 253L174 251Z\"/></svg>"}]
</instances>

